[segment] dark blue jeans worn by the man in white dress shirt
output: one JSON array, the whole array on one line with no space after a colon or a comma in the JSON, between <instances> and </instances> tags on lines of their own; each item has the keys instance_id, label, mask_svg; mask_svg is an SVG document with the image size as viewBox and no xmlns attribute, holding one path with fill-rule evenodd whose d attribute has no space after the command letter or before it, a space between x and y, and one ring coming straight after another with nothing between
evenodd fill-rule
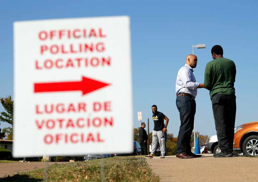
<instances>
[{"instance_id":1,"label":"dark blue jeans worn by the man in white dress shirt","mask_svg":"<svg viewBox=\"0 0 258 182\"><path fill-rule=\"evenodd\" d=\"M180 129L177 138L176 154L190 153L190 140L194 128L194 115L196 112L196 103L189 96L177 96L177 109L180 114Z\"/></svg>"}]
</instances>

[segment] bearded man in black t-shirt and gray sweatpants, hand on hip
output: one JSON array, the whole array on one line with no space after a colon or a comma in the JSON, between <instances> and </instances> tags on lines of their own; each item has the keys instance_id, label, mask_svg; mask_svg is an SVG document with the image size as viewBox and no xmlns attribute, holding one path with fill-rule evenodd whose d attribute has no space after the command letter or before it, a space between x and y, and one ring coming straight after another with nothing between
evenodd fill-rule
<instances>
[{"instance_id":1,"label":"bearded man in black t-shirt and gray sweatpants, hand on hip","mask_svg":"<svg viewBox=\"0 0 258 182\"><path fill-rule=\"evenodd\" d=\"M151 153L148 157L153 157L156 151L157 144L159 142L161 157L165 158L165 134L167 132L168 126L168 117L166 117L163 113L158 111L156 105L151 107L152 109L152 119L154 121L154 129L152 131L152 145L151 145ZM164 126L164 119L166 120L166 124Z\"/></svg>"}]
</instances>

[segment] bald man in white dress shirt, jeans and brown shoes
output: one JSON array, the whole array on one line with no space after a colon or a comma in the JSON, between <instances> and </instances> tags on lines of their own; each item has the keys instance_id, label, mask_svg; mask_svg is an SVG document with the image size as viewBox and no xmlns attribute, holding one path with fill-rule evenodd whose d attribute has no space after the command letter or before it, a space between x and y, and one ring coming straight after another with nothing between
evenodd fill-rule
<instances>
[{"instance_id":1,"label":"bald man in white dress shirt, jeans and brown shoes","mask_svg":"<svg viewBox=\"0 0 258 182\"><path fill-rule=\"evenodd\" d=\"M189 159L200 157L191 152L190 140L194 127L194 115L196 112L195 97L197 89L205 88L204 84L196 82L193 74L197 65L196 55L189 54L186 57L186 64L179 69L176 80L176 105L180 114L180 129L177 138L176 157Z\"/></svg>"}]
</instances>

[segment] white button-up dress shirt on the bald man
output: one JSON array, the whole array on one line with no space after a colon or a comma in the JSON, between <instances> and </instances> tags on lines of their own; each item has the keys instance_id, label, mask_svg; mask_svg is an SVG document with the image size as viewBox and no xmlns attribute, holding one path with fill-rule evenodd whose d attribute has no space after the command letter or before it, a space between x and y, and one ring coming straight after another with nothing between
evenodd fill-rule
<instances>
[{"instance_id":1,"label":"white button-up dress shirt on the bald man","mask_svg":"<svg viewBox=\"0 0 258 182\"><path fill-rule=\"evenodd\" d=\"M183 92L196 97L196 88L199 86L199 83L196 82L193 72L194 70L187 64L179 69L176 81L176 95Z\"/></svg>"}]
</instances>

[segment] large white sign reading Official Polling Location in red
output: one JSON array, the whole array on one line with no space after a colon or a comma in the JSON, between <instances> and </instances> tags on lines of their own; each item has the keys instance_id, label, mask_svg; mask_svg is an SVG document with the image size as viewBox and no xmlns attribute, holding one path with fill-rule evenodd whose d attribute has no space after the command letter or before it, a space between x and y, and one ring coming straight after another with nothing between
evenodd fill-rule
<instances>
[{"instance_id":1,"label":"large white sign reading Official Polling Location in red","mask_svg":"<svg viewBox=\"0 0 258 182\"><path fill-rule=\"evenodd\" d=\"M129 17L14 23L13 156L133 150Z\"/></svg>"}]
</instances>

